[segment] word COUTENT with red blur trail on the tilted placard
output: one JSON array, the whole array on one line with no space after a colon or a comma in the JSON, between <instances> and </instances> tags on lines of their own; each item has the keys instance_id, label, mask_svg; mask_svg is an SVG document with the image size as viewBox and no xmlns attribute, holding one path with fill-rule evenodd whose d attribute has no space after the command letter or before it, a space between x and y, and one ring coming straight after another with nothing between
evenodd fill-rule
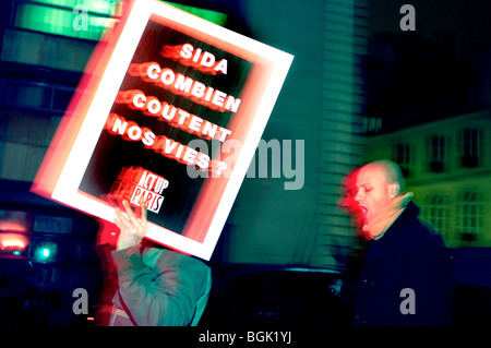
<instances>
[{"instance_id":1,"label":"word COUTENT with red blur trail on the tilted placard","mask_svg":"<svg viewBox=\"0 0 491 348\"><path fill-rule=\"evenodd\" d=\"M225 142L226 137L231 134L231 131L226 128L189 113L166 101L160 101L154 96L146 96L140 89L120 91L116 97L116 103L128 104L133 110L142 110L146 116L158 117L160 121L202 139L216 139Z\"/></svg>"}]
</instances>

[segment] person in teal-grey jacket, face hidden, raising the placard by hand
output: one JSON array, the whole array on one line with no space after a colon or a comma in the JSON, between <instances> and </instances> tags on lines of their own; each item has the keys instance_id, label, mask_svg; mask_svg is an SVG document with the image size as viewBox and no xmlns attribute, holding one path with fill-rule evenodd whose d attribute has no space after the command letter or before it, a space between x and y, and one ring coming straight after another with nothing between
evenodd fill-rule
<instances>
[{"instance_id":1,"label":"person in teal-grey jacket, face hidden, raising the placard by hand","mask_svg":"<svg viewBox=\"0 0 491 348\"><path fill-rule=\"evenodd\" d=\"M202 261L144 240L146 206L140 218L128 201L116 208L120 230L111 259L117 290L109 326L197 325L211 290L211 271Z\"/></svg>"}]
</instances>

